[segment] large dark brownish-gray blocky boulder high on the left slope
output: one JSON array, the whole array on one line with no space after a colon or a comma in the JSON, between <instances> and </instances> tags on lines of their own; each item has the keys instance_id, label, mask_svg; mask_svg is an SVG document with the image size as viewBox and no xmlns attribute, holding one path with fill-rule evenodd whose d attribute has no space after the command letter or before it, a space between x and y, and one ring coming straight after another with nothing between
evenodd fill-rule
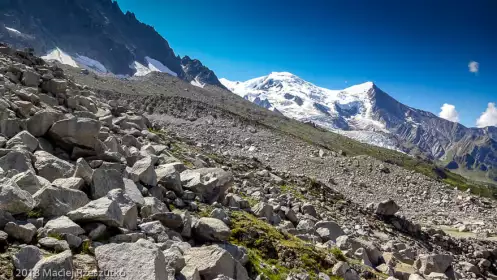
<instances>
[{"instance_id":1,"label":"large dark brownish-gray blocky boulder high on the left slope","mask_svg":"<svg viewBox=\"0 0 497 280\"><path fill-rule=\"evenodd\" d=\"M48 135L67 147L79 146L95 150L98 147L100 127L99 121L89 118L63 119L52 125Z\"/></svg>"}]
</instances>

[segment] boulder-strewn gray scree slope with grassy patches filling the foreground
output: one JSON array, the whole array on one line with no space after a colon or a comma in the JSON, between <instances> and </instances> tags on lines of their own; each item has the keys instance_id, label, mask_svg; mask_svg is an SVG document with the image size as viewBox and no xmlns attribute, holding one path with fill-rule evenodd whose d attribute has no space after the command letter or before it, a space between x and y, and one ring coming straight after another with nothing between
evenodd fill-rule
<instances>
[{"instance_id":1,"label":"boulder-strewn gray scree slope with grassy patches filling the foreground","mask_svg":"<svg viewBox=\"0 0 497 280\"><path fill-rule=\"evenodd\" d=\"M495 201L78 71L0 46L0 279L497 277Z\"/></svg>"}]
</instances>

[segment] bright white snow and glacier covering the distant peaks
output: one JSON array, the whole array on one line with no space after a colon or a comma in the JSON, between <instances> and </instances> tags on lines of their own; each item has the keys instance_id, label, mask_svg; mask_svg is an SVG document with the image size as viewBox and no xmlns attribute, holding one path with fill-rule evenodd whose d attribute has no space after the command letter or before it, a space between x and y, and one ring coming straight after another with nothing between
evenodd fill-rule
<instances>
[{"instance_id":1,"label":"bright white snow and glacier covering the distant peaks","mask_svg":"<svg viewBox=\"0 0 497 280\"><path fill-rule=\"evenodd\" d=\"M288 72L273 72L245 82L222 78L220 82L266 109L299 121L311 121L364 143L398 150L398 143L388 135L385 125L373 117L372 82L330 90Z\"/></svg>"}]
</instances>

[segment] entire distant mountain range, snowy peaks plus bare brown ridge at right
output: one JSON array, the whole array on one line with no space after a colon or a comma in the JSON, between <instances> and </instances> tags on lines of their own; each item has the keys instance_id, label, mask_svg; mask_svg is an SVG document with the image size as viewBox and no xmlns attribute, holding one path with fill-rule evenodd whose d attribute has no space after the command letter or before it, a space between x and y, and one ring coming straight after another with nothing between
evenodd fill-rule
<instances>
[{"instance_id":1,"label":"entire distant mountain range, snowy peaks plus bare brown ridge at right","mask_svg":"<svg viewBox=\"0 0 497 280\"><path fill-rule=\"evenodd\" d=\"M497 181L497 127L467 128L411 108L372 82L329 90L287 72L245 82L220 81L233 93L287 117Z\"/></svg>"}]
</instances>

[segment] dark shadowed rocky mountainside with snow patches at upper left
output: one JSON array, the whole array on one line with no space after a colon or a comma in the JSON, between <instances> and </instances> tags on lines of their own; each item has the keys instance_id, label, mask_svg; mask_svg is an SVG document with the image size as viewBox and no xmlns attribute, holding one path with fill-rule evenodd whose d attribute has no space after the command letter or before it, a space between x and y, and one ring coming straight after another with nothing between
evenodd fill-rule
<instances>
[{"instance_id":1,"label":"dark shadowed rocky mountainside with snow patches at upper left","mask_svg":"<svg viewBox=\"0 0 497 280\"><path fill-rule=\"evenodd\" d=\"M222 87L212 71L198 60L176 56L153 27L124 14L117 2L6 0L0 11L0 40L47 58L100 73L160 71Z\"/></svg>"}]
</instances>

